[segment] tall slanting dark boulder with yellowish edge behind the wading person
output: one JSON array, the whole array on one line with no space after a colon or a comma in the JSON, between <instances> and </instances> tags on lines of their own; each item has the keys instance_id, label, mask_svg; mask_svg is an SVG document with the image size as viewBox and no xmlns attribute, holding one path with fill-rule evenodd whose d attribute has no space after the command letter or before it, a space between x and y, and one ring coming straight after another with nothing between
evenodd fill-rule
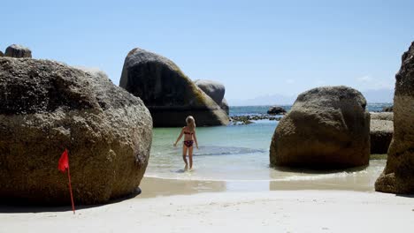
<instances>
[{"instance_id":1,"label":"tall slanting dark boulder with yellowish edge behind the wading person","mask_svg":"<svg viewBox=\"0 0 414 233\"><path fill-rule=\"evenodd\" d=\"M156 127L182 126L188 115L201 126L228 124L226 112L173 61L144 49L128 53L119 86L142 99Z\"/></svg>"}]
</instances>

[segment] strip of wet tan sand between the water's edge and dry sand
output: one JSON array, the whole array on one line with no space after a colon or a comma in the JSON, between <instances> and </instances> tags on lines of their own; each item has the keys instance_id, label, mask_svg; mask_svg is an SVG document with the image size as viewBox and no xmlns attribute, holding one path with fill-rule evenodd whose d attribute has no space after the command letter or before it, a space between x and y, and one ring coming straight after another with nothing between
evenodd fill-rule
<instances>
[{"instance_id":1,"label":"strip of wet tan sand between the water's edge and dry sand","mask_svg":"<svg viewBox=\"0 0 414 233\"><path fill-rule=\"evenodd\" d=\"M144 177L137 198L189 195L203 192L266 192L337 190L373 192L375 178L334 177L301 181L203 181Z\"/></svg>"}]
</instances>

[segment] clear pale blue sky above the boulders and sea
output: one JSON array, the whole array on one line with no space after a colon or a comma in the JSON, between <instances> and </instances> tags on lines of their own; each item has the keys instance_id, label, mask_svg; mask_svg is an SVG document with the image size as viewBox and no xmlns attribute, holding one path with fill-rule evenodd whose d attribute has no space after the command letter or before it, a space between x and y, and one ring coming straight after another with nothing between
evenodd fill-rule
<instances>
[{"instance_id":1,"label":"clear pale blue sky above the boulders and sea","mask_svg":"<svg viewBox=\"0 0 414 233\"><path fill-rule=\"evenodd\" d=\"M0 49L98 67L119 85L136 47L229 100L315 86L393 89L414 40L414 1L2 1Z\"/></svg>"}]
</instances>

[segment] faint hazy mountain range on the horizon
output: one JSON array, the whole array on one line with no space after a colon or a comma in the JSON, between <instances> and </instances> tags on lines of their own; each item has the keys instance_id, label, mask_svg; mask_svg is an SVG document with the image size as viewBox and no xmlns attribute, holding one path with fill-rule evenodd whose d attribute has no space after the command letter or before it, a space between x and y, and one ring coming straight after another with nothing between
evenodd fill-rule
<instances>
[{"instance_id":1,"label":"faint hazy mountain range on the horizon","mask_svg":"<svg viewBox=\"0 0 414 233\"><path fill-rule=\"evenodd\" d=\"M393 102L394 89L378 89L362 91L368 102ZM228 100L230 106L254 106L254 105L290 105L296 100L297 95L268 94L248 100Z\"/></svg>"}]
</instances>

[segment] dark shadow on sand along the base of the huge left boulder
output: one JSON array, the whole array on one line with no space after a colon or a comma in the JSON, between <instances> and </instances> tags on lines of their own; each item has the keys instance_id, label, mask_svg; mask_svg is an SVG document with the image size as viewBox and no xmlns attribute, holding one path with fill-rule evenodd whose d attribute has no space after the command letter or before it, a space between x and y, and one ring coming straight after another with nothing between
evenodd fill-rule
<instances>
[{"instance_id":1,"label":"dark shadow on sand along the base of the huge left boulder","mask_svg":"<svg viewBox=\"0 0 414 233\"><path fill-rule=\"evenodd\" d=\"M111 205L115 203L122 202L126 199L134 199L136 196L142 193L141 188L137 188L135 192L128 194L126 196L120 197L118 199L111 199L108 203L96 204L96 205L76 205L75 210L88 209L94 207L102 207L106 205ZM8 203L0 202L0 214L27 214L27 213L49 213L49 212L67 212L72 211L72 206L68 203L67 206L40 206L31 202L21 201L13 199L8 201Z\"/></svg>"}]
</instances>

